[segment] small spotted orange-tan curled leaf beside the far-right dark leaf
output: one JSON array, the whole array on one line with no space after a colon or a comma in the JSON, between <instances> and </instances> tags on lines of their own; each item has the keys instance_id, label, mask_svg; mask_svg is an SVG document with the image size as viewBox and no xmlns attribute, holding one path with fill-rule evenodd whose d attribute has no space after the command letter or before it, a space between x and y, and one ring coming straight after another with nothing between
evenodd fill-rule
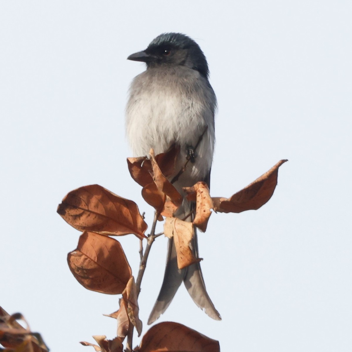
<instances>
[{"instance_id":1,"label":"small spotted orange-tan curled leaf beside the far-right dark leaf","mask_svg":"<svg viewBox=\"0 0 352 352\"><path fill-rule=\"evenodd\" d=\"M210 209L214 207L208 185L205 182L197 182L193 187L185 187L183 189L188 194L188 200L196 201L196 215L193 224L205 232L209 217L212 214Z\"/></svg>"}]
</instances>

